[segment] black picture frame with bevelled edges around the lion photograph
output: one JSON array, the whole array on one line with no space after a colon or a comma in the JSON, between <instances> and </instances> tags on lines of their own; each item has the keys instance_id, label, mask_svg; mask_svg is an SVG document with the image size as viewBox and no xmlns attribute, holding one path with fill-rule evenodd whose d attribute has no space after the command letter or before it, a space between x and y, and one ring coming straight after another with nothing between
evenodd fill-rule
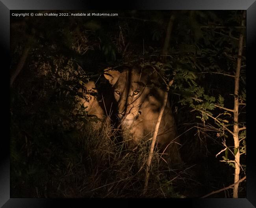
<instances>
[{"instance_id":1,"label":"black picture frame with bevelled edges around the lion photograph","mask_svg":"<svg viewBox=\"0 0 256 208\"><path fill-rule=\"evenodd\" d=\"M255 53L253 53L254 46L256 43L256 2L255 0L141 0L141 1L129 1L123 4L120 1L118 4L110 4L109 2L99 3L97 1L87 0L44 0L44 1L33 1L33 0L1 0L0 1L0 21L1 21L1 50L2 50L2 71L9 74L10 66L10 11L11 10L43 10L43 9L147 9L147 10L247 10L247 100L249 99L249 109L252 105L253 86L252 78L253 71L255 71ZM3 75L3 73L2 73ZM8 80L3 83L3 91L6 90L6 86L9 86L9 78L4 75L3 80ZM249 95L249 96L248 96ZM3 96L4 97L4 96ZM6 108L9 109L8 103ZM247 103L247 108L248 108ZM4 109L4 108L3 108ZM5 111L5 110L3 110ZM250 111L250 110L249 110ZM7 111L9 112L9 111ZM251 111L252 112L252 111ZM9 118L9 113L7 113ZM250 124L250 118L252 119L253 113L247 114L247 198L239 199L165 199L164 203L178 204L179 207L218 207L218 208L252 208L256 207L256 165L254 161L254 145L252 136L252 124ZM4 121L4 119L3 119ZM6 125L6 127L5 127ZM2 127L4 131L9 129L7 127L8 122L3 122ZM94 203L94 206L98 202L113 204L113 200L109 199L10 199L10 160L9 160L9 131L6 132L6 136L2 133L2 147L1 147L1 161L0 161L0 206L3 208L7 207L78 207L78 206L89 206L88 203ZM117 202L123 203L128 199L118 199ZM91 202L90 202L91 201ZM130 201L130 200L129 200ZM151 199L144 199L143 201L151 203ZM161 200L159 203L162 203ZM129 204L129 202L127 203ZM130 203L132 205L132 203ZM106 205L106 204L105 204ZM176 207L176 205L174 206Z\"/></svg>"}]
</instances>

